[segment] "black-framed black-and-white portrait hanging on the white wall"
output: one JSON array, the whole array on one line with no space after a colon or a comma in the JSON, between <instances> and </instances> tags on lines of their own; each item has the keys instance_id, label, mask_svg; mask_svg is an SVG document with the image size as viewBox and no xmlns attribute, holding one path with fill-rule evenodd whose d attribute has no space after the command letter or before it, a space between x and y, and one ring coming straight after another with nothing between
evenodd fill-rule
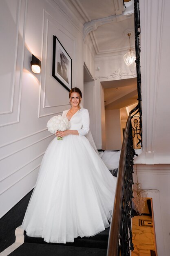
<instances>
[{"instance_id":1,"label":"black-framed black-and-white portrait hanging on the white wall","mask_svg":"<svg viewBox=\"0 0 170 256\"><path fill-rule=\"evenodd\" d=\"M53 67L52 76L60 82L68 92L72 84L72 59L58 40L53 36Z\"/></svg>"}]
</instances>

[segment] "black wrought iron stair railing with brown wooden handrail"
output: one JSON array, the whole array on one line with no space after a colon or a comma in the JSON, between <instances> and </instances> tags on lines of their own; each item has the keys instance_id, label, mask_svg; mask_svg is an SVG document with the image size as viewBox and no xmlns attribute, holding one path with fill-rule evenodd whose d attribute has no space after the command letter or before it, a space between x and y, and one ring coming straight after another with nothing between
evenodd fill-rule
<instances>
[{"instance_id":1,"label":"black wrought iron stair railing with brown wooden handrail","mask_svg":"<svg viewBox=\"0 0 170 256\"><path fill-rule=\"evenodd\" d=\"M138 145L142 146L142 111L141 111L141 71L140 71L140 12L139 0L134 0L135 14L135 51L137 68L138 104L129 113L121 148L119 171L117 176L117 189L113 207L113 216L110 223L107 256L130 256L133 250L131 217L132 212L132 184L133 184L133 137L137 135ZM132 120L138 116L139 125L136 130L132 128Z\"/></svg>"}]
</instances>

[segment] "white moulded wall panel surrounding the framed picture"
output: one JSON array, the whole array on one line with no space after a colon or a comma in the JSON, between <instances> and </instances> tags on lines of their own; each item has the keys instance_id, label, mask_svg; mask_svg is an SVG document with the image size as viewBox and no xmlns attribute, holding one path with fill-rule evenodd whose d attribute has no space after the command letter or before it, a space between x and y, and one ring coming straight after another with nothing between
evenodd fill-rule
<instances>
[{"instance_id":1,"label":"white moulded wall panel surrounding the framed picture","mask_svg":"<svg viewBox=\"0 0 170 256\"><path fill-rule=\"evenodd\" d=\"M72 58L72 84L75 83L76 38L57 22L49 13L44 11L42 81L39 100L39 117L62 112L68 106L68 91L51 76L53 35L62 43ZM74 86L73 86L74 87ZM53 93L51 93L51 91Z\"/></svg>"}]
</instances>

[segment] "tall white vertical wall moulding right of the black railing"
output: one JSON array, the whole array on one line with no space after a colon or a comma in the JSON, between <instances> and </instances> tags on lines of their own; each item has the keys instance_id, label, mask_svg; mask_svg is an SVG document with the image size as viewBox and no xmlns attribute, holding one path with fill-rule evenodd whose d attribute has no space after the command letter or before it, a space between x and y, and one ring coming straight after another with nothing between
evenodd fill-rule
<instances>
[{"instance_id":1,"label":"tall white vertical wall moulding right of the black railing","mask_svg":"<svg viewBox=\"0 0 170 256\"><path fill-rule=\"evenodd\" d=\"M141 53L143 53L141 54L141 80L143 85L141 89L142 94L144 94L142 109L146 113L143 117L143 147L144 152L146 152L146 163L154 164L164 0L156 0L154 8L152 8L150 1L144 0L141 3L141 9L143 10L141 12ZM155 16L153 13L157 13L157 15ZM145 34L144 37L142 33ZM153 52L157 54L153 54ZM149 102L152 104L149 104Z\"/></svg>"}]
</instances>

